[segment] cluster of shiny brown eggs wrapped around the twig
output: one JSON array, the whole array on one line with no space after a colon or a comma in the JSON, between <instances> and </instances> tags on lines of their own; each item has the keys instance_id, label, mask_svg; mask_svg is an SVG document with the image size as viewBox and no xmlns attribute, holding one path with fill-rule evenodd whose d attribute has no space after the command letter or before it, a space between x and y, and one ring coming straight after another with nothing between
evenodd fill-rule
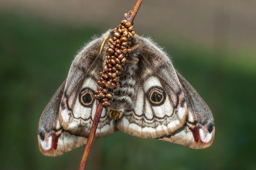
<instances>
[{"instance_id":1,"label":"cluster of shiny brown eggs wrapped around the twig","mask_svg":"<svg viewBox=\"0 0 256 170\"><path fill-rule=\"evenodd\" d=\"M122 20L121 24L114 30L114 37L108 40L109 48L106 50L108 56L101 78L97 81L98 87L94 98L101 100L104 107L108 107L113 101L113 89L120 86L120 74L123 65L131 50L132 36L135 35L131 22Z\"/></svg>"}]
</instances>

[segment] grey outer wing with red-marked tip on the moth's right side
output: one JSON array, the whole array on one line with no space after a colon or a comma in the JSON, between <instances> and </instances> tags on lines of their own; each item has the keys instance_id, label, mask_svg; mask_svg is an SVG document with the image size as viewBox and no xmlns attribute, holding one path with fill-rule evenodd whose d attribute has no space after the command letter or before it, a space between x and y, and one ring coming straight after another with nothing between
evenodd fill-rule
<instances>
[{"instance_id":1,"label":"grey outer wing with red-marked tip on the moth's right side","mask_svg":"<svg viewBox=\"0 0 256 170\"><path fill-rule=\"evenodd\" d=\"M177 72L188 105L186 124L170 136L160 140L181 144L193 149L209 147L214 139L215 125L208 105L188 81Z\"/></svg>"}]
</instances>

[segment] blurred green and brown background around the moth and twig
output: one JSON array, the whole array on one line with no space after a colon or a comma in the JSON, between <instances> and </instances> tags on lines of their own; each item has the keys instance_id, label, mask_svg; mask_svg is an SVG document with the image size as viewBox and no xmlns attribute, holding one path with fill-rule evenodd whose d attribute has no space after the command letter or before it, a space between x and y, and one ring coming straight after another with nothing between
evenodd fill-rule
<instances>
[{"instance_id":1,"label":"blurred green and brown background around the moth and twig","mask_svg":"<svg viewBox=\"0 0 256 170\"><path fill-rule=\"evenodd\" d=\"M38 149L37 124L77 50L115 27L135 0L0 0L1 169L78 169L84 147ZM134 20L172 56L211 108L211 147L192 150L122 132L96 140L87 169L256 169L255 0L145 0Z\"/></svg>"}]
</instances>

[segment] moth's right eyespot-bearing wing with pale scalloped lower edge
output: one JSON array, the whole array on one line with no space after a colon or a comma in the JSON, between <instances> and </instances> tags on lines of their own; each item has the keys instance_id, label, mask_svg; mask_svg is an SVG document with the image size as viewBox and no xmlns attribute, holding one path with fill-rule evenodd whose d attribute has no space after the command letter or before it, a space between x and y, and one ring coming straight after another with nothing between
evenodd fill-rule
<instances>
[{"instance_id":1,"label":"moth's right eyespot-bearing wing with pale scalloped lower edge","mask_svg":"<svg viewBox=\"0 0 256 170\"><path fill-rule=\"evenodd\" d=\"M170 135L181 128L188 110L172 62L154 43L145 38L138 50L138 87L131 110L124 111L117 128L143 138Z\"/></svg>"}]
</instances>

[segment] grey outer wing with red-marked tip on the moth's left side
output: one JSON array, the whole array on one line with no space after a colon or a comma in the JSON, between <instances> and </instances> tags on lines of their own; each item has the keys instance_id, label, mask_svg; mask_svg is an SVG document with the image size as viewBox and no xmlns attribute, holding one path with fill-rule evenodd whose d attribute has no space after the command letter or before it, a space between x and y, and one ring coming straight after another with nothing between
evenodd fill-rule
<instances>
[{"instance_id":1,"label":"grey outer wing with red-marked tip on the moth's left side","mask_svg":"<svg viewBox=\"0 0 256 170\"><path fill-rule=\"evenodd\" d=\"M66 81L53 95L50 102L41 114L37 139L39 150L46 156L59 156L84 145L87 138L71 135L60 126L58 119L60 100Z\"/></svg>"}]
</instances>

